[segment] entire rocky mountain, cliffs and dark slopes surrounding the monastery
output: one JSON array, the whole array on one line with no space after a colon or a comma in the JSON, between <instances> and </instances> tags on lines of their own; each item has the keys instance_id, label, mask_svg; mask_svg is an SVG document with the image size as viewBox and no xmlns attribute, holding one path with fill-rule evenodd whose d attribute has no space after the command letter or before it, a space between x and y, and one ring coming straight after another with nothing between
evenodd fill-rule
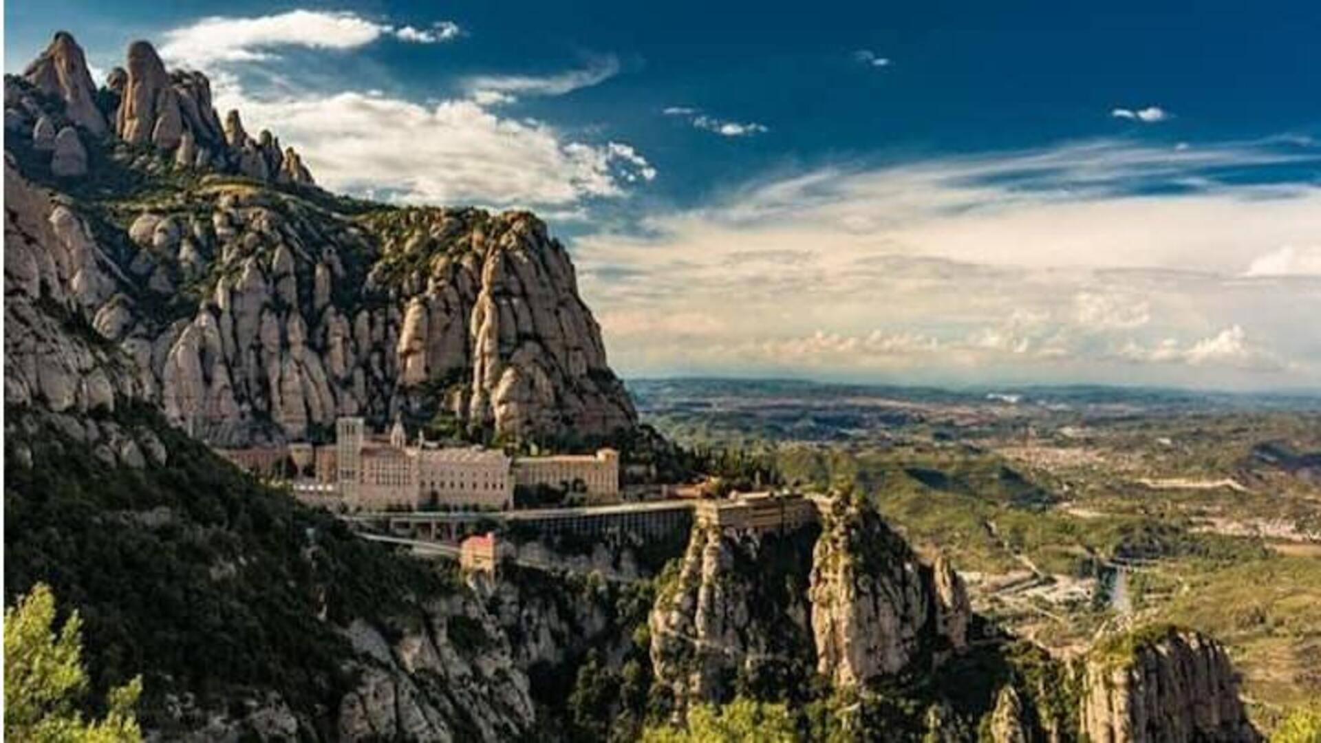
<instances>
[{"instance_id":1,"label":"entire rocky mountain, cliffs and dark slopes surrounding the monastery","mask_svg":"<svg viewBox=\"0 0 1321 743\"><path fill-rule=\"evenodd\" d=\"M328 194L143 42L95 89L57 34L5 79L5 127L7 600L78 607L92 685L143 674L152 739L633 739L734 698L808 739L1254 736L1209 639L1052 658L864 498L683 550L622 535L637 580L362 541L197 439L631 428L564 247L526 213Z\"/></svg>"}]
</instances>

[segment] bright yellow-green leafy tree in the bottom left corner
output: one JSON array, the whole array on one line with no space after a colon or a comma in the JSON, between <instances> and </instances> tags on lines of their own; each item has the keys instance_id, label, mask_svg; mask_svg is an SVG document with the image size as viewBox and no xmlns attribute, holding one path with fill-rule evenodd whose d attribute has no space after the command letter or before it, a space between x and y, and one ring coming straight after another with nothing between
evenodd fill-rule
<instances>
[{"instance_id":1,"label":"bright yellow-green leafy tree in the bottom left corner","mask_svg":"<svg viewBox=\"0 0 1321 743\"><path fill-rule=\"evenodd\" d=\"M4 732L33 743L111 743L141 740L133 707L141 677L112 689L106 719L85 722L79 702L87 693L82 665L82 620L73 612L54 629L55 596L37 583L4 612Z\"/></svg>"}]
</instances>

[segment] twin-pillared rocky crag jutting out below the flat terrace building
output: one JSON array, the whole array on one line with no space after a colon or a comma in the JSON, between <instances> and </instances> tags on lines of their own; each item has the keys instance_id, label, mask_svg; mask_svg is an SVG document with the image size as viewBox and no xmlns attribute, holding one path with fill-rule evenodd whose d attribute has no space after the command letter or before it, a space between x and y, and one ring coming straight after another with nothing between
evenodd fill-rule
<instances>
[{"instance_id":1,"label":"twin-pillared rocky crag jutting out below the flat terrace building","mask_svg":"<svg viewBox=\"0 0 1321 743\"><path fill-rule=\"evenodd\" d=\"M835 498L822 526L697 526L650 616L672 706L925 676L967 645L963 582L922 563L871 508ZM791 693L793 695L793 693Z\"/></svg>"}]
</instances>

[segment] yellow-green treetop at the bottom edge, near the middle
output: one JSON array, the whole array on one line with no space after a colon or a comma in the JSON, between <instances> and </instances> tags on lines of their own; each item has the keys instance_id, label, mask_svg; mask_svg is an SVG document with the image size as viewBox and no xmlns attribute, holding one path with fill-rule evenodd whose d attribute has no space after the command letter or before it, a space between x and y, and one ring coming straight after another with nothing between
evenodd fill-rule
<instances>
[{"instance_id":1,"label":"yellow-green treetop at the bottom edge, near the middle","mask_svg":"<svg viewBox=\"0 0 1321 743\"><path fill-rule=\"evenodd\" d=\"M687 727L649 726L642 743L791 743L799 739L794 718L785 705L744 697L716 707L688 709Z\"/></svg>"}]
</instances>

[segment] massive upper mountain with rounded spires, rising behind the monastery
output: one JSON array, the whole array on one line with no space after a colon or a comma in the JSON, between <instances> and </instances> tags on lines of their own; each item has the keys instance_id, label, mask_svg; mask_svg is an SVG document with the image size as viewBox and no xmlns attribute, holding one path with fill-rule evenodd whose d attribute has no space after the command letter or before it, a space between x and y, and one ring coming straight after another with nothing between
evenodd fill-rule
<instances>
[{"instance_id":1,"label":"massive upper mountain with rounded spires, rising behind the monastery","mask_svg":"<svg viewBox=\"0 0 1321 743\"><path fill-rule=\"evenodd\" d=\"M106 87L90 79L61 32L5 81L5 185L34 246L7 268L32 290L7 313L54 303L86 320L89 342L131 362L114 394L229 446L317 436L339 415L539 439L635 424L568 253L534 215L326 194L147 42ZM104 402L77 349L17 333L7 352L9 402Z\"/></svg>"}]
</instances>

